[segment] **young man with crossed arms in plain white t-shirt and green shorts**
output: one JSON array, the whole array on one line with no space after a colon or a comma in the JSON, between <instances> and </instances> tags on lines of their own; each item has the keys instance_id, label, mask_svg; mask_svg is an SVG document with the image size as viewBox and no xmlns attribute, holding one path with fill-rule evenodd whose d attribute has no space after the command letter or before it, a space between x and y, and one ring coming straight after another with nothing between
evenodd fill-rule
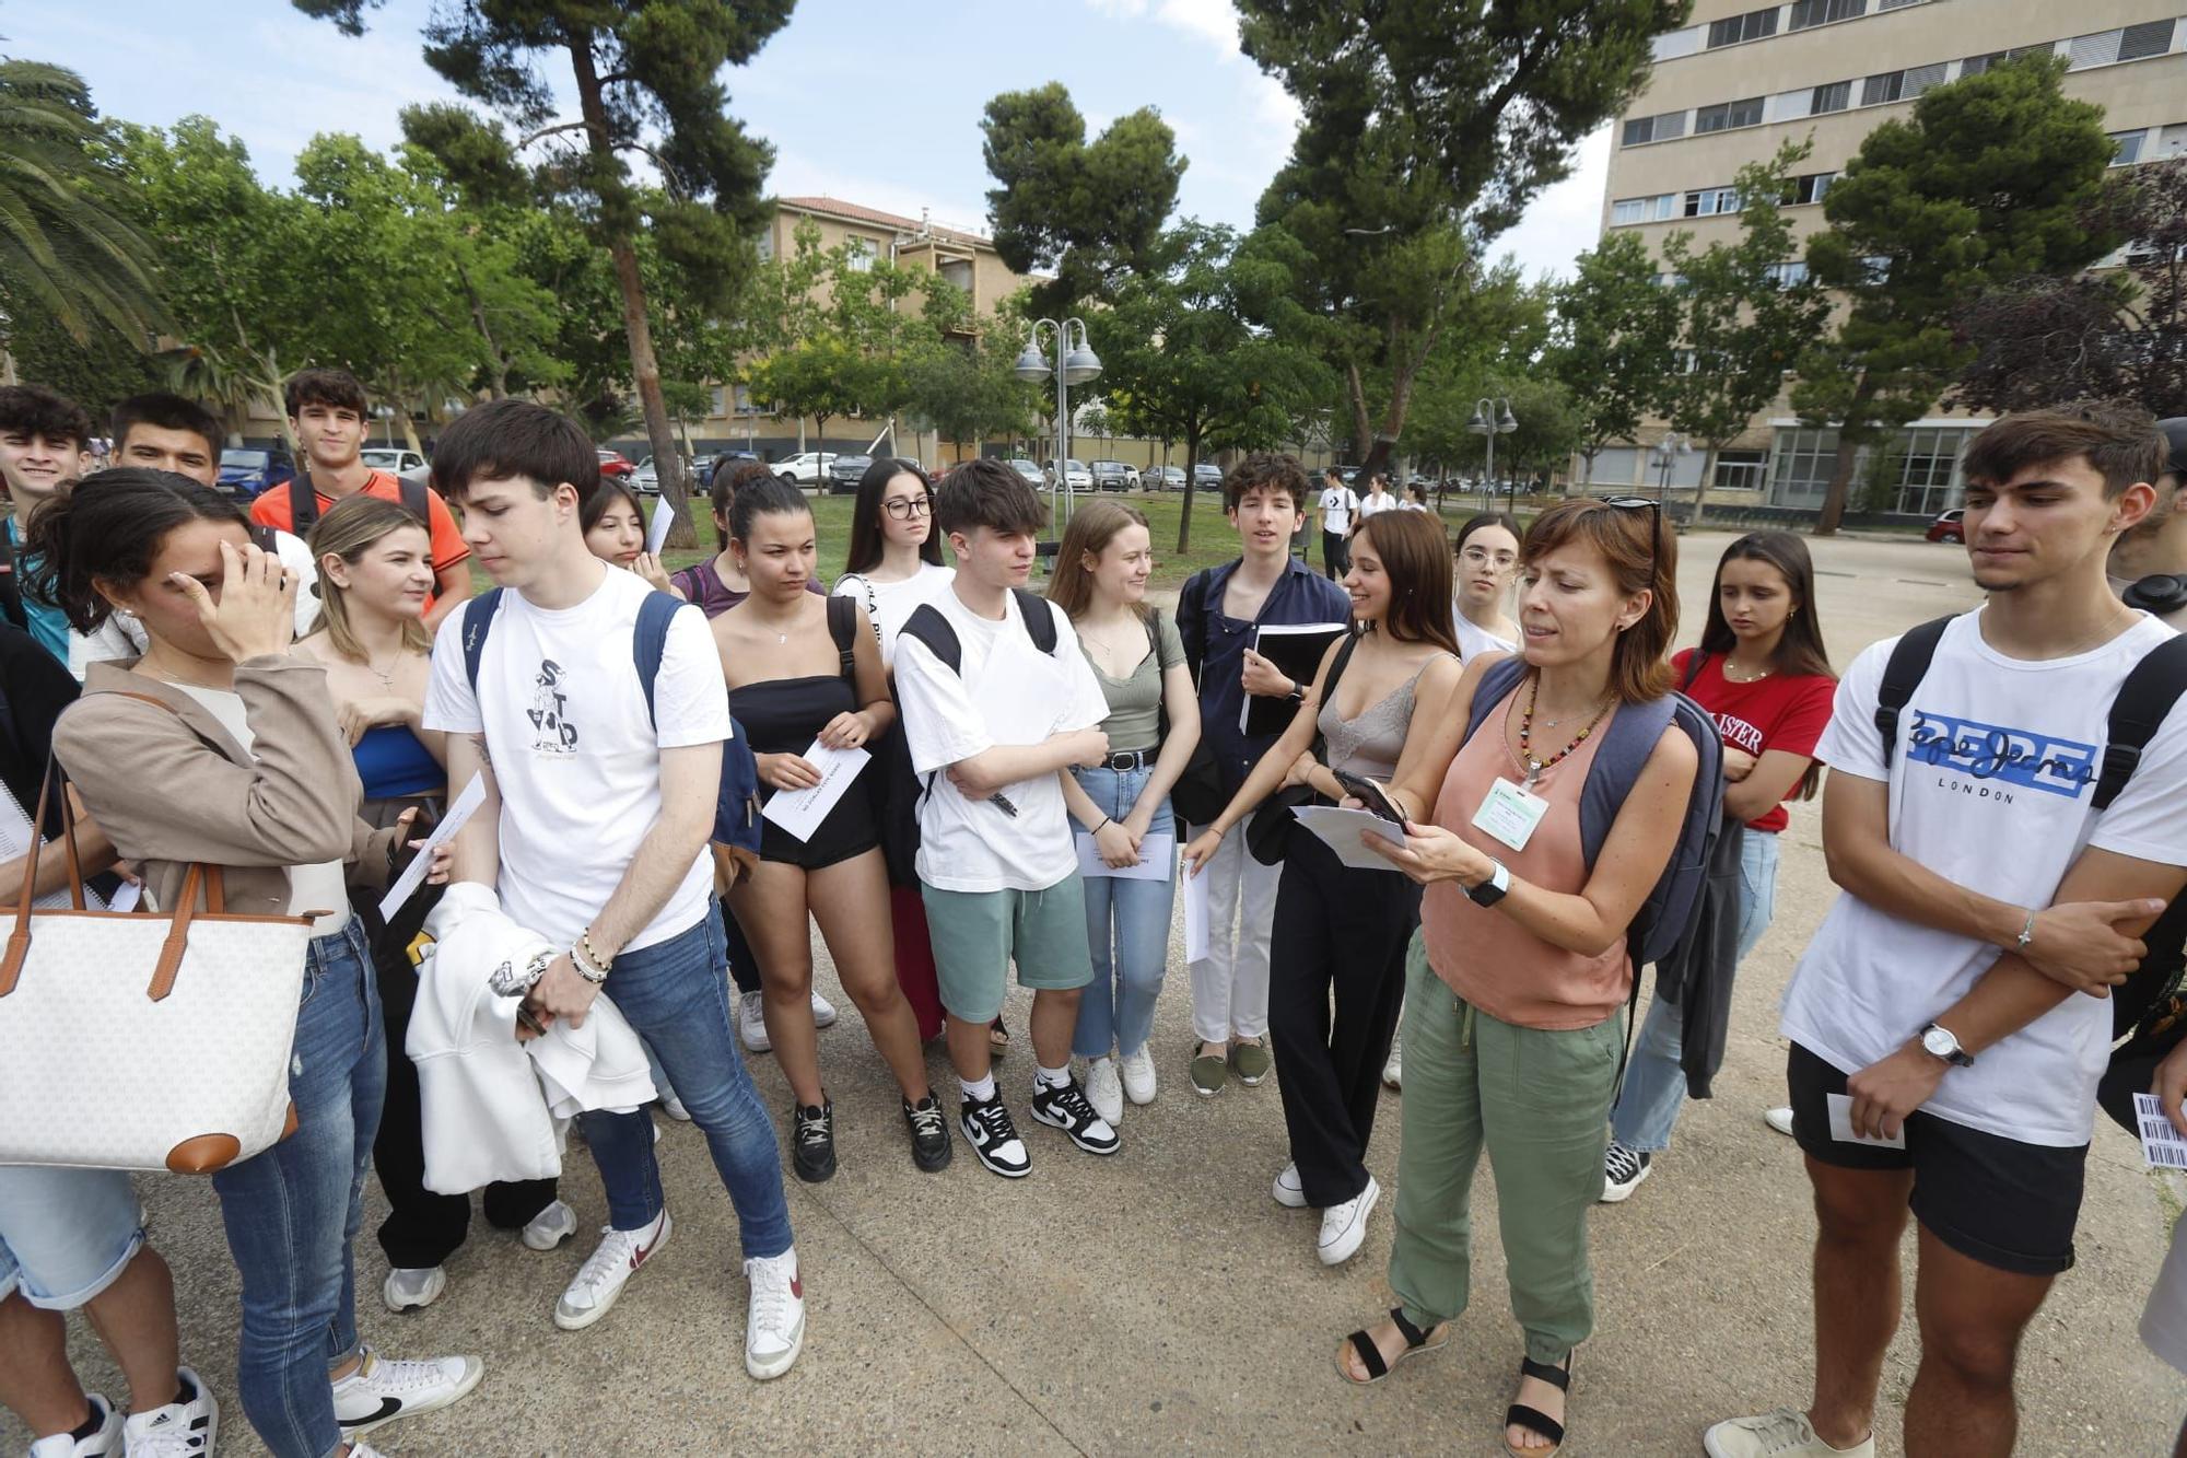
<instances>
[{"instance_id":1,"label":"young man with crossed arms in plain white t-shirt and green shorts","mask_svg":"<svg viewBox=\"0 0 2187 1458\"><path fill-rule=\"evenodd\" d=\"M919 887L934 941L949 1062L964 1086L958 1127L1004 1178L1030 1173L1026 1143L995 1090L986 1029L1002 1011L1010 963L1032 987L1032 1116L1089 1154L1118 1136L1072 1077L1078 996L1094 981L1078 849L1061 773L1102 764L1109 701L1063 609L1015 589L1032 571L1048 512L999 460L969 460L940 484L934 525L956 552L956 578L897 635L897 701L912 768L932 777L919 801ZM1026 613L1048 613L1054 652ZM951 668L929 635L956 644Z\"/></svg>"}]
</instances>

